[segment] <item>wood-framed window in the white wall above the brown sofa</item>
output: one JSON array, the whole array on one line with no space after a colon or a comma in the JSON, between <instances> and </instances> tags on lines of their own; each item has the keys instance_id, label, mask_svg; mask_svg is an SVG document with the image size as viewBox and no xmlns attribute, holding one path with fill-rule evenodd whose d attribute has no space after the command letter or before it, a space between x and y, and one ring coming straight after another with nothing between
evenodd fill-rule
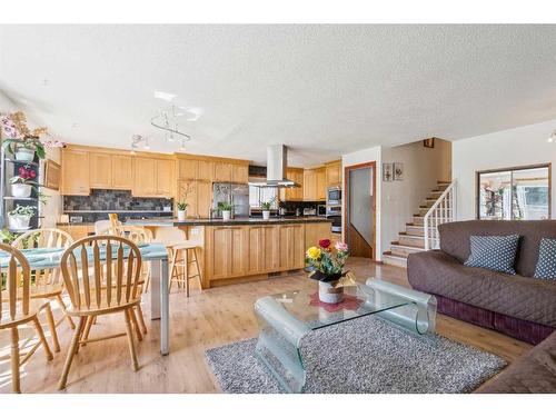
<instances>
[{"instance_id":1,"label":"wood-framed window in the white wall above the brown sofa","mask_svg":"<svg viewBox=\"0 0 556 417\"><path fill-rule=\"evenodd\" d=\"M550 218L550 165L477 172L477 218Z\"/></svg>"}]
</instances>

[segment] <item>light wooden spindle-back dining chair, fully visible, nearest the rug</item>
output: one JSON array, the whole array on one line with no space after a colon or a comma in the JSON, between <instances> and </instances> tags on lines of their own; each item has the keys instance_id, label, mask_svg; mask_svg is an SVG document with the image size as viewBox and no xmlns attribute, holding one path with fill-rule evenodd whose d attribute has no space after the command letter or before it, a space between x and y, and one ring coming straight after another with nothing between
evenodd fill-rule
<instances>
[{"instance_id":1,"label":"light wooden spindle-back dining chair, fully visible, nearest the rug","mask_svg":"<svg viewBox=\"0 0 556 417\"><path fill-rule=\"evenodd\" d=\"M141 252L131 240L119 236L91 236L76 241L62 255L62 277L70 296L68 314L79 318L59 381L66 388L68 374L80 345L127 336L131 365L139 369L133 331L133 308L141 302ZM86 325L102 315L122 314L125 334L83 337ZM90 325L89 325L90 327Z\"/></svg>"}]
</instances>

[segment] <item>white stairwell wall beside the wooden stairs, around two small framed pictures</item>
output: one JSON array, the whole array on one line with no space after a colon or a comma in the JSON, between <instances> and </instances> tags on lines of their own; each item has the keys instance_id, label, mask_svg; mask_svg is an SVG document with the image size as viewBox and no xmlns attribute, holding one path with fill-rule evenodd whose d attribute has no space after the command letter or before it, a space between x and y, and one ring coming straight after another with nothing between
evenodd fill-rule
<instances>
[{"instance_id":1,"label":"white stairwell wall beside the wooden stairs, around two small framed pictures","mask_svg":"<svg viewBox=\"0 0 556 417\"><path fill-rule=\"evenodd\" d=\"M451 142L436 139L434 148L425 148L419 140L383 148L383 162L401 162L405 172L401 181L383 182L381 246L387 250L436 188L436 181L450 180Z\"/></svg>"}]
</instances>

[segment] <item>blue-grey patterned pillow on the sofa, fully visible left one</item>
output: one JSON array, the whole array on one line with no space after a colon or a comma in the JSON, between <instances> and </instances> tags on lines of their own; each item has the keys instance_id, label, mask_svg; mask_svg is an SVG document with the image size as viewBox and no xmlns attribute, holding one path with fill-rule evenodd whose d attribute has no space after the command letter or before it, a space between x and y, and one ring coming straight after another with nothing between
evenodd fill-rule
<instances>
[{"instance_id":1,"label":"blue-grey patterned pillow on the sofa, fully visible left one","mask_svg":"<svg viewBox=\"0 0 556 417\"><path fill-rule=\"evenodd\" d=\"M465 265L516 275L514 264L519 235L471 236L470 240L471 255Z\"/></svg>"}]
</instances>

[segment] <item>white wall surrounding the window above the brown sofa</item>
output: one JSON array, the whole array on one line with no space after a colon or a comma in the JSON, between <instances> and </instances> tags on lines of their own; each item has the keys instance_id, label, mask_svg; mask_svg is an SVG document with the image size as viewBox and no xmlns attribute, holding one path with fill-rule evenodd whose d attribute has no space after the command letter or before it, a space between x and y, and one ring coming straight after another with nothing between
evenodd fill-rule
<instances>
[{"instance_id":1,"label":"white wall surrounding the window above the brown sofa","mask_svg":"<svg viewBox=\"0 0 556 417\"><path fill-rule=\"evenodd\" d=\"M556 142L547 139L556 119L453 142L453 177L457 179L459 220L476 217L476 172L536 163L556 165ZM554 176L553 176L554 179ZM556 181L552 185L552 218L556 218Z\"/></svg>"}]
</instances>

